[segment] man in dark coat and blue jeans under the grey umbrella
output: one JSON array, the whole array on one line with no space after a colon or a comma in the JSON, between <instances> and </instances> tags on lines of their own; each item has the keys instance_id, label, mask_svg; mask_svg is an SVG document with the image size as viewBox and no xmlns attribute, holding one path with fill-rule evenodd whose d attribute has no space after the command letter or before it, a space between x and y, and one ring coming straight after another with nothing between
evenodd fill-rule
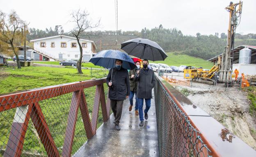
<instances>
[{"instance_id":1,"label":"man in dark coat and blue jeans under the grey umbrella","mask_svg":"<svg viewBox=\"0 0 256 157\"><path fill-rule=\"evenodd\" d=\"M145 119L148 119L148 111L151 106L152 89L155 86L155 74L152 69L149 69L149 61L144 59L142 61L143 68L137 71L135 75L135 81L138 81L137 86L137 99L139 105L139 126L144 125L143 119L143 100L145 99L146 108L144 110Z\"/></svg>"}]
</instances>

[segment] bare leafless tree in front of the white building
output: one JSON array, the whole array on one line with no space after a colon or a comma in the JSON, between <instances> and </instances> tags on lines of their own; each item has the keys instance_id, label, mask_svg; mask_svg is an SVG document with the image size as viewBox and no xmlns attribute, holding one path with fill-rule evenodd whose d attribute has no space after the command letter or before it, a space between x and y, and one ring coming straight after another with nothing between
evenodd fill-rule
<instances>
[{"instance_id":1,"label":"bare leafless tree in front of the white building","mask_svg":"<svg viewBox=\"0 0 256 157\"><path fill-rule=\"evenodd\" d=\"M75 35L80 49L80 57L77 64L77 70L78 73L82 73L82 46L80 43L80 37L81 35L86 35L86 30L98 27L101 20L98 20L97 23L92 24L91 20L89 19L89 13L86 10L81 11L80 9L78 11L73 11L71 16L71 22L75 22L76 25L72 31L72 34Z\"/></svg>"}]
</instances>

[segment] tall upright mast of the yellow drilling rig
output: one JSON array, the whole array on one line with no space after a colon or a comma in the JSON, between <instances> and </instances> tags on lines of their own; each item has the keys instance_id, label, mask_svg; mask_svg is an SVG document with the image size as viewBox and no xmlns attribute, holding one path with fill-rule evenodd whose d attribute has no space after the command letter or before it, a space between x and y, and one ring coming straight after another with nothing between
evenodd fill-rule
<instances>
[{"instance_id":1,"label":"tall upright mast of the yellow drilling rig","mask_svg":"<svg viewBox=\"0 0 256 157\"><path fill-rule=\"evenodd\" d=\"M232 83L232 64L233 56L231 56L231 50L234 49L235 41L235 29L240 23L242 13L242 2L233 3L230 2L229 6L225 8L229 12L229 30L227 37L227 45L224 53L222 53L221 64L219 69L219 82L225 84ZM239 21L239 23L238 23Z\"/></svg>"}]
</instances>

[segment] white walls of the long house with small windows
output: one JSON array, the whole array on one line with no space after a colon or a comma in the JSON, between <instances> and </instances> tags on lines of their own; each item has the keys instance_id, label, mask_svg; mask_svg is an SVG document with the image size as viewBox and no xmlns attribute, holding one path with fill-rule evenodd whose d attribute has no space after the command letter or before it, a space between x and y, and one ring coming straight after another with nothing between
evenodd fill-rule
<instances>
[{"instance_id":1,"label":"white walls of the long house with small windows","mask_svg":"<svg viewBox=\"0 0 256 157\"><path fill-rule=\"evenodd\" d=\"M41 47L40 43L46 42L46 47ZM55 43L55 47L51 47L51 42ZM66 48L61 47L61 42L66 42ZM71 43L76 43L76 48L71 48ZM92 57L92 51L91 46L92 43L88 41L80 40L80 43L83 42L87 43L87 47L82 48L83 49L83 55L90 55ZM62 54L63 60L78 60L80 57L80 50L77 43L77 40L67 37L57 37L52 39L46 39L46 40L39 40L34 42L34 49L36 51L40 51L41 53L45 53L46 55L50 55L53 58L59 59L59 54ZM77 57L75 56L77 55Z\"/></svg>"}]
</instances>

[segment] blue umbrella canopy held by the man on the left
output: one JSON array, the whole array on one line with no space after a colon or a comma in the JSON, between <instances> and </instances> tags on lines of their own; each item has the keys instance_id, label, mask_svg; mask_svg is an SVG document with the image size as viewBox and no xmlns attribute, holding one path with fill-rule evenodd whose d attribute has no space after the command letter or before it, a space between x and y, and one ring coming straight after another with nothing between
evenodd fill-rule
<instances>
[{"instance_id":1,"label":"blue umbrella canopy held by the man on the left","mask_svg":"<svg viewBox=\"0 0 256 157\"><path fill-rule=\"evenodd\" d=\"M103 66L104 68L111 69L116 66L116 59L123 61L122 67L124 69L132 70L136 67L133 59L129 55L116 50L103 50L101 52L98 52L89 60L89 62L93 63L94 65Z\"/></svg>"}]
</instances>

